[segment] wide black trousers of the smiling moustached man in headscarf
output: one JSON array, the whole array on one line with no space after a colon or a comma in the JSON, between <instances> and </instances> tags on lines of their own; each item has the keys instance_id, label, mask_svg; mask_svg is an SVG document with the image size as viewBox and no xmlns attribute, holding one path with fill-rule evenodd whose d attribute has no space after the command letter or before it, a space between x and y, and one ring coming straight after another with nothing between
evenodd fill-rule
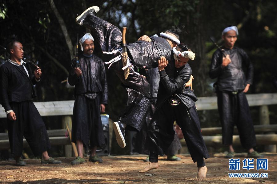
<instances>
[{"instance_id":1,"label":"wide black trousers of the smiling moustached man in headscarf","mask_svg":"<svg viewBox=\"0 0 277 184\"><path fill-rule=\"evenodd\" d=\"M82 140L86 148L105 147L100 116L100 95L97 95L94 100L76 95L72 116L71 141L76 143L76 140Z\"/></svg>"}]
</instances>

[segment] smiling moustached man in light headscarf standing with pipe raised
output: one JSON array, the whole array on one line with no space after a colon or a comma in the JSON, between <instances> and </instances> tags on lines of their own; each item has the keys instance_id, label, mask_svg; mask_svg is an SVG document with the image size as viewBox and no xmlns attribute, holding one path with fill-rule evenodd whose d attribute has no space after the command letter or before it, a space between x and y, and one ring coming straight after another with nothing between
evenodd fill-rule
<instances>
[{"instance_id":1,"label":"smiling moustached man in light headscarf standing with pipe raised","mask_svg":"<svg viewBox=\"0 0 277 184\"><path fill-rule=\"evenodd\" d=\"M77 143L78 157L71 162L72 165L85 161L83 144L90 147L91 162L102 162L95 155L97 147L105 146L105 139L100 117L105 112L108 101L108 86L104 62L93 54L94 38L86 33L79 44L82 55L79 62L76 58L70 63L68 82L75 86L75 102L72 117L72 142ZM100 108L99 108L100 106ZM90 142L90 145L89 145Z\"/></svg>"}]
</instances>

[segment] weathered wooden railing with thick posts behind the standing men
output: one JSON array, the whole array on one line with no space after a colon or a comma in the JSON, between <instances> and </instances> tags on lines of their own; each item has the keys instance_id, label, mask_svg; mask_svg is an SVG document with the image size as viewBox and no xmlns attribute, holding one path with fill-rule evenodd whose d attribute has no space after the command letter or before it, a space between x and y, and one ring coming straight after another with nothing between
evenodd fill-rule
<instances>
[{"instance_id":1,"label":"weathered wooden railing with thick posts behind the standing men","mask_svg":"<svg viewBox=\"0 0 277 184\"><path fill-rule=\"evenodd\" d=\"M255 126L255 132L259 133L257 137L258 144L277 144L277 125L270 125L269 122L269 111L268 105L277 104L277 93L263 93L263 94L247 94L247 100L249 106L260 106L260 125ZM34 102L39 113L42 116L55 116L62 115L62 130L48 130L51 144L60 144L65 146L66 157L70 157L72 151L71 145L68 137L65 137L66 124L71 126L71 116L73 112L74 100L69 101L53 101L53 102ZM217 109L217 98L216 97L199 97L196 102L196 107L198 111L201 110L213 110ZM6 113L2 107L0 107L0 118L6 118ZM274 122L276 123L276 122ZM267 135L260 133L269 133ZM206 144L216 145L221 144L221 136L216 136L216 134L221 133L221 128L203 128L202 129L203 138ZM234 144L239 144L239 139L237 135L234 135ZM185 145L185 142L182 141ZM25 145L26 142L24 142ZM275 145L273 145L274 148ZM272 146L269 146L272 147ZM7 133L0 133L0 149L9 148ZM274 151L271 148L269 151ZM268 151L268 150L267 150ZM276 146L275 146L276 152Z\"/></svg>"}]
</instances>

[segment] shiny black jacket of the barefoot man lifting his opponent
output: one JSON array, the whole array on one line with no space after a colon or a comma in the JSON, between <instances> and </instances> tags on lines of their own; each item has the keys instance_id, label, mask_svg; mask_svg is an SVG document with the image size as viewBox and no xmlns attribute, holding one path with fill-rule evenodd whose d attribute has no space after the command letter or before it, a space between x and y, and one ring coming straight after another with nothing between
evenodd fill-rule
<instances>
[{"instance_id":1,"label":"shiny black jacket of the barefoot man lifting his opponent","mask_svg":"<svg viewBox=\"0 0 277 184\"><path fill-rule=\"evenodd\" d=\"M189 64L175 69L174 79L171 79L167 75L166 70L159 71L159 73L161 79L156 103L157 108L160 108L167 98L174 93L186 107L190 108L195 104L194 102L197 101L197 97L191 90L191 87L185 87L185 84L189 81L192 74Z\"/></svg>"}]
</instances>

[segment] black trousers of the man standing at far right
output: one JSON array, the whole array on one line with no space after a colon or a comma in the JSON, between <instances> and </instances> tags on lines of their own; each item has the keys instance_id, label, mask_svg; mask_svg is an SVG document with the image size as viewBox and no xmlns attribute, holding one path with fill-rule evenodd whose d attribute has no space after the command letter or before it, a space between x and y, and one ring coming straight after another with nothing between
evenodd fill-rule
<instances>
[{"instance_id":1,"label":"black trousers of the man standing at far right","mask_svg":"<svg viewBox=\"0 0 277 184\"><path fill-rule=\"evenodd\" d=\"M247 98L243 91L237 94L217 92L217 105L222 126L222 141L225 145L233 143L233 131L236 125L240 142L245 149L256 146L256 136Z\"/></svg>"}]
</instances>

